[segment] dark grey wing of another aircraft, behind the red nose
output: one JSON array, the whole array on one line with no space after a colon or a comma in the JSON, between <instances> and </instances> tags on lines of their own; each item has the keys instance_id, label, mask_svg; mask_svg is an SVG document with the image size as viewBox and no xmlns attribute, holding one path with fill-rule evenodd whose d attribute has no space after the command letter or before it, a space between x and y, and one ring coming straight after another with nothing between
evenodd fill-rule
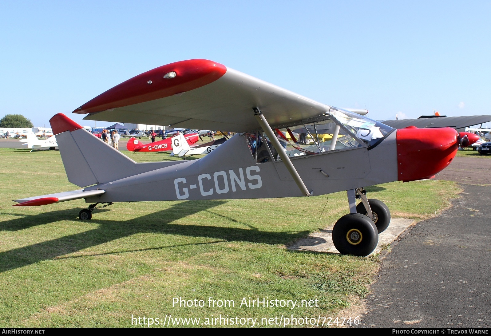
<instances>
[{"instance_id":1,"label":"dark grey wing of another aircraft, behind the red nose","mask_svg":"<svg viewBox=\"0 0 491 336\"><path fill-rule=\"evenodd\" d=\"M416 126L417 128L452 127L455 129L484 124L491 121L491 115L466 115L455 117L436 117L418 119L380 120L393 128Z\"/></svg>"}]
</instances>

